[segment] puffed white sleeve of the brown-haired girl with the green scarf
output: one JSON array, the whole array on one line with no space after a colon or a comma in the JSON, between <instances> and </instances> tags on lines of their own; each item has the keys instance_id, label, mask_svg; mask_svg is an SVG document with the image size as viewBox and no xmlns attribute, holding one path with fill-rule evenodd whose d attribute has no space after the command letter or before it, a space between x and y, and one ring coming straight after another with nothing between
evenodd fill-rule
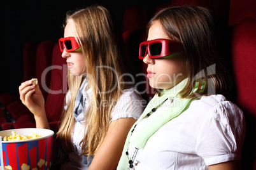
<instances>
[{"instance_id":1,"label":"puffed white sleeve of the brown-haired girl with the green scarf","mask_svg":"<svg viewBox=\"0 0 256 170\"><path fill-rule=\"evenodd\" d=\"M205 114L208 116L197 138L196 154L207 165L241 159L245 119L240 108L222 101Z\"/></svg>"}]
</instances>

